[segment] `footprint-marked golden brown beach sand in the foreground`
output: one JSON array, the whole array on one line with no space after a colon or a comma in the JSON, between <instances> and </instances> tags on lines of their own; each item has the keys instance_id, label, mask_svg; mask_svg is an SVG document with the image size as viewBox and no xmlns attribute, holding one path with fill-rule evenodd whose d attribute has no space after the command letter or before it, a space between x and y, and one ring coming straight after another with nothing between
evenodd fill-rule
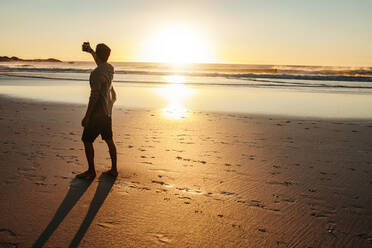
<instances>
[{"instance_id":1,"label":"footprint-marked golden brown beach sand in the foreground","mask_svg":"<svg viewBox=\"0 0 372 248\"><path fill-rule=\"evenodd\" d=\"M0 97L0 247L371 247L372 121L114 110Z\"/></svg>"}]
</instances>

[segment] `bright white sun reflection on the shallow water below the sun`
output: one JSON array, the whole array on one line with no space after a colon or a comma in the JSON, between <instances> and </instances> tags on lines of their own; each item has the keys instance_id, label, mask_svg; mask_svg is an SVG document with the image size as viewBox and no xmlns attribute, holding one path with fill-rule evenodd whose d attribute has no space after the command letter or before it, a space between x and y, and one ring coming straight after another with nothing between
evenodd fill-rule
<instances>
[{"instance_id":1,"label":"bright white sun reflection on the shallow water below the sun","mask_svg":"<svg viewBox=\"0 0 372 248\"><path fill-rule=\"evenodd\" d=\"M168 105L162 109L163 115L172 120L180 120L190 116L190 112L184 106L184 101L194 94L194 90L187 87L183 76L165 76L164 80L170 84L156 89L156 92L163 97Z\"/></svg>"}]
</instances>

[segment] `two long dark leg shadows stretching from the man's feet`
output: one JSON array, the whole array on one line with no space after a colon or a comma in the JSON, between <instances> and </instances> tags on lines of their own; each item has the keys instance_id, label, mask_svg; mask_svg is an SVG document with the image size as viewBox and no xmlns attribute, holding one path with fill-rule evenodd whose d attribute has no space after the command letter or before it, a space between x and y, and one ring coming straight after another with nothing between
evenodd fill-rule
<instances>
[{"instance_id":1,"label":"two long dark leg shadows stretching from the man's feet","mask_svg":"<svg viewBox=\"0 0 372 248\"><path fill-rule=\"evenodd\" d=\"M58 228L59 224L62 223L63 219L76 205L79 199L83 196L85 191L91 185L92 181L86 181L81 179L73 179L71 181L70 190L67 192L65 199L62 201L58 210L56 211L53 219L50 221L45 230L40 234L39 238L35 241L32 247L42 247L52 236L54 231ZM94 194L93 200L89 206L87 215L82 222L78 232L74 239L71 241L70 247L77 247L96 216L98 210L101 208L103 202L107 198L112 186L115 183L115 179L101 175L99 177L99 183L97 186L96 193Z\"/></svg>"}]
</instances>

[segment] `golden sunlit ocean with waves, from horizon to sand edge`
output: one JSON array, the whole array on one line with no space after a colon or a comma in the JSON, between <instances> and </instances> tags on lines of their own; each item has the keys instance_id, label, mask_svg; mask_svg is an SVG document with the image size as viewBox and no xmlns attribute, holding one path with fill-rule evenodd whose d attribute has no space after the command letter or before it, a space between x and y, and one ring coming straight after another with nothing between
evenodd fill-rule
<instances>
[{"instance_id":1,"label":"golden sunlit ocean with waves, from horizon to sand edge","mask_svg":"<svg viewBox=\"0 0 372 248\"><path fill-rule=\"evenodd\" d=\"M317 118L372 118L372 67L113 62L117 106ZM0 94L86 104L93 62L2 62Z\"/></svg>"}]
</instances>

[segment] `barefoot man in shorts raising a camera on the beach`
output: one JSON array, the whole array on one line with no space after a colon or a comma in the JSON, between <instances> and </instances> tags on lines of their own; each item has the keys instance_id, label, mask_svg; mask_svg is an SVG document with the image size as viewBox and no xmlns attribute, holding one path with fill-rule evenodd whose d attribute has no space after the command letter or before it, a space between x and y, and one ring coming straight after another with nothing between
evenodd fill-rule
<instances>
[{"instance_id":1,"label":"barefoot man in shorts raising a camera on the beach","mask_svg":"<svg viewBox=\"0 0 372 248\"><path fill-rule=\"evenodd\" d=\"M89 168L87 171L78 174L76 177L91 180L96 176L94 168L94 148L93 142L101 135L106 142L110 157L111 169L104 174L116 177L118 175L116 167L116 146L112 139L112 107L116 100L116 93L112 86L114 68L107 63L110 56L110 48L105 44L98 44L94 51L89 42L84 42L83 51L90 53L97 67L91 72L89 78L90 97L88 109L85 117L81 121L84 127L81 140L84 142L85 155L88 160Z\"/></svg>"}]
</instances>

